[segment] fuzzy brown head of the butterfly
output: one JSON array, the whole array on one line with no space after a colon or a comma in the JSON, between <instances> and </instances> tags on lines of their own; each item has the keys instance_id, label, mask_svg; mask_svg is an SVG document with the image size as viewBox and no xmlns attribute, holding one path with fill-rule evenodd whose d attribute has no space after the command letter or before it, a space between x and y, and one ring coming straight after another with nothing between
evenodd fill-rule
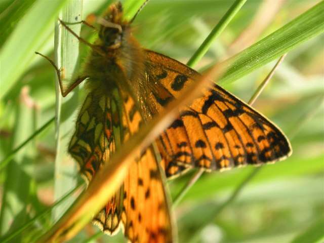
<instances>
[{"instance_id":1,"label":"fuzzy brown head of the butterfly","mask_svg":"<svg viewBox=\"0 0 324 243\"><path fill-rule=\"evenodd\" d=\"M128 23L123 20L123 7L120 2L111 5L106 13L98 19L101 25L99 38L109 49L120 47Z\"/></svg>"}]
</instances>

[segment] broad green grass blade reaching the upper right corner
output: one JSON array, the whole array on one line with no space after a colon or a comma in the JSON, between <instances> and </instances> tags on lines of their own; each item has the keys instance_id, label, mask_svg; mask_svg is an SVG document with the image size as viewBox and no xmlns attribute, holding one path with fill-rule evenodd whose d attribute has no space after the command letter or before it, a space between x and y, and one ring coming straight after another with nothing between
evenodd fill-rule
<instances>
[{"instance_id":1,"label":"broad green grass blade reaching the upper right corner","mask_svg":"<svg viewBox=\"0 0 324 243\"><path fill-rule=\"evenodd\" d=\"M323 12L322 1L258 43L225 60L231 64L218 82L233 82L319 35L324 31Z\"/></svg>"}]
</instances>

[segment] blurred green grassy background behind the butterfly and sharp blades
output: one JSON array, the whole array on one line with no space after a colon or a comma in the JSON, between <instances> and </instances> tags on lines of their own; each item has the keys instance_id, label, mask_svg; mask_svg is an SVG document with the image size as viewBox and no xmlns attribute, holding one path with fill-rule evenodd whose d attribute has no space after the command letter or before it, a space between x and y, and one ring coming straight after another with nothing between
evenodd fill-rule
<instances>
[{"instance_id":1,"label":"blurred green grassy background behind the butterfly and sharp blades","mask_svg":"<svg viewBox=\"0 0 324 243\"><path fill-rule=\"evenodd\" d=\"M54 57L55 19L65 2L0 3L0 160L55 115L56 73L34 51ZM83 19L100 14L110 2L84 0ZM143 47L186 63L233 2L151 0L136 18L134 34ZM251 46L319 2L248 0L195 68L204 70ZM81 35L90 41L95 37L87 27ZM324 241L323 43L320 34L290 51L254 104L290 138L293 155L257 172L246 167L204 174L175 208L180 242ZM80 46L81 62L88 51ZM5 60L4 52L11 58ZM274 64L221 85L248 101ZM74 106L81 105L82 99L81 90ZM73 123L67 125L71 132ZM0 235L21 228L54 203L55 154L52 123L7 166L0 165ZM169 181L173 197L193 173ZM239 193L228 201L238 187ZM47 214L12 242L33 241L51 225ZM97 231L89 224L69 242L83 242ZM121 233L100 234L96 240L124 242Z\"/></svg>"}]
</instances>

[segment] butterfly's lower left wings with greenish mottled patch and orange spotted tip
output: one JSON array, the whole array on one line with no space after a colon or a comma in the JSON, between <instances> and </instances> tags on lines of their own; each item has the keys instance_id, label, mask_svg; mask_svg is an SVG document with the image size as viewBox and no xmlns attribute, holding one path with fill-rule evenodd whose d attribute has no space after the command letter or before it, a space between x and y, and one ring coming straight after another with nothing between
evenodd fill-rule
<instances>
[{"instance_id":1,"label":"butterfly's lower left wings with greenish mottled patch and orange spotted tip","mask_svg":"<svg viewBox=\"0 0 324 243\"><path fill-rule=\"evenodd\" d=\"M125 91L114 89L107 96L93 91L87 96L69 145L87 182L109 163L111 153L139 130L141 122L133 98ZM123 186L94 218L108 234L114 234L120 222L132 242L171 242L174 238L164 177L152 146L131 164Z\"/></svg>"}]
</instances>

